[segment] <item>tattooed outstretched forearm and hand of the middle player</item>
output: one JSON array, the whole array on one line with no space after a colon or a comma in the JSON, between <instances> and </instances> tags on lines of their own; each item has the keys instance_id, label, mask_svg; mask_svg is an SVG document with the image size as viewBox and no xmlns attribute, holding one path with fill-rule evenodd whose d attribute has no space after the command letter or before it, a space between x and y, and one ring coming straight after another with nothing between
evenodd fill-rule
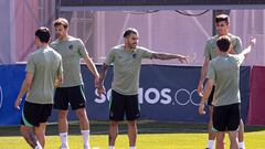
<instances>
[{"instance_id":1,"label":"tattooed outstretched forearm and hand of the middle player","mask_svg":"<svg viewBox=\"0 0 265 149\"><path fill-rule=\"evenodd\" d=\"M153 53L152 58L158 60L173 60L178 58L181 63L188 63L189 56L180 55L180 54L169 54L169 53Z\"/></svg>"}]
</instances>

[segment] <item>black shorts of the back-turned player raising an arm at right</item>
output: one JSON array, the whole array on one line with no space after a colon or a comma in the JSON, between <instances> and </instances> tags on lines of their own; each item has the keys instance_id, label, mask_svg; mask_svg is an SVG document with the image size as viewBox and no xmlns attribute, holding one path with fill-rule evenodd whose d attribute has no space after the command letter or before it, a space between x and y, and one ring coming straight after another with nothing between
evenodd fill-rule
<instances>
[{"instance_id":1,"label":"black shorts of the back-turned player raising an arm at right","mask_svg":"<svg viewBox=\"0 0 265 149\"><path fill-rule=\"evenodd\" d=\"M240 104L213 107L213 129L218 131L235 131L241 120Z\"/></svg>"}]
</instances>

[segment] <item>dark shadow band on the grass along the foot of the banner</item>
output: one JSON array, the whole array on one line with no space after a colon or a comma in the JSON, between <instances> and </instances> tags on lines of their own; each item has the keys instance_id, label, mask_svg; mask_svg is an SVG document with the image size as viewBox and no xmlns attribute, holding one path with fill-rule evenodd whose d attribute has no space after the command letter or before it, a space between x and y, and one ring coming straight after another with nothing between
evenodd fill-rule
<instances>
[{"instance_id":1,"label":"dark shadow band on the grass along the foot of the banner","mask_svg":"<svg viewBox=\"0 0 265 149\"><path fill-rule=\"evenodd\" d=\"M263 131L265 127L246 126L245 132ZM138 121L139 134L205 134L205 124L176 123L176 121ZM49 124L46 128L47 136L57 136L57 124ZM70 135L80 135L80 125L77 121L70 123ZM108 121L91 121L92 135L108 134ZM120 123L119 134L127 134L127 124ZM20 136L19 126L0 127L0 137Z\"/></svg>"}]
</instances>

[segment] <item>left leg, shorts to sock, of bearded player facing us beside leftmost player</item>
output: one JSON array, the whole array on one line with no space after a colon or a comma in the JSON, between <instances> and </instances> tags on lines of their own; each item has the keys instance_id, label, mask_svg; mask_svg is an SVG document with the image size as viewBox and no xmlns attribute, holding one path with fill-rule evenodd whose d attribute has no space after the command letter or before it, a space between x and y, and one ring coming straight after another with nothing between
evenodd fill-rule
<instances>
[{"instance_id":1,"label":"left leg, shorts to sock, of bearded player facing us beside leftmost player","mask_svg":"<svg viewBox=\"0 0 265 149\"><path fill-rule=\"evenodd\" d=\"M61 139L60 149L68 149L68 98L67 87L59 87L54 95L54 109L57 109L59 135Z\"/></svg>"}]
</instances>

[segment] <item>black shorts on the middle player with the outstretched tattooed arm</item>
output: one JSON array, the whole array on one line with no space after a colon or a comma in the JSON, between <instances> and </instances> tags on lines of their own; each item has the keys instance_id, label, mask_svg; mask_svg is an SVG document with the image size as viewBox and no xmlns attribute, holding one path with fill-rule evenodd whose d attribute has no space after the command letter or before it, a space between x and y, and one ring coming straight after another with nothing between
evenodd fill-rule
<instances>
[{"instance_id":1,"label":"black shorts on the middle player with the outstretched tattooed arm","mask_svg":"<svg viewBox=\"0 0 265 149\"><path fill-rule=\"evenodd\" d=\"M140 117L138 95L121 95L112 91L109 119L115 121L136 120Z\"/></svg>"}]
</instances>

